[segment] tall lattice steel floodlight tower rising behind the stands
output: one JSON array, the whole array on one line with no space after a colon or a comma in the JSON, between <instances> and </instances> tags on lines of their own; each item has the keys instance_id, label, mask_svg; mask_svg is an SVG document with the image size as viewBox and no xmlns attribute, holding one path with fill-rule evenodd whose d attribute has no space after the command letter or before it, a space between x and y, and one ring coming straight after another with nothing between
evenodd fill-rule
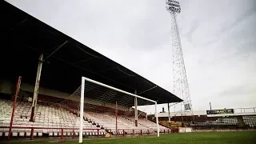
<instances>
[{"instance_id":1,"label":"tall lattice steel floodlight tower rising behind the stands","mask_svg":"<svg viewBox=\"0 0 256 144\"><path fill-rule=\"evenodd\" d=\"M177 14L181 12L178 1L166 0L166 10L170 13L172 50L173 50L173 73L174 73L174 94L184 101L181 102L180 112L182 116L193 115L190 90L186 78L186 69L182 54L181 38L178 32Z\"/></svg>"}]
</instances>

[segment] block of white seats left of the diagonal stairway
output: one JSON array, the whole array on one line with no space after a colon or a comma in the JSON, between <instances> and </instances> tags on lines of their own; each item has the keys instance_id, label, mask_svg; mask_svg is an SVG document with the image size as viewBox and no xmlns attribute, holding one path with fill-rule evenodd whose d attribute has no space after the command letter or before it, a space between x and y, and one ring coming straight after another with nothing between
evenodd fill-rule
<instances>
[{"instance_id":1,"label":"block of white seats left of the diagonal stairway","mask_svg":"<svg viewBox=\"0 0 256 144\"><path fill-rule=\"evenodd\" d=\"M0 126L10 126L10 117L12 111L12 102L8 100L0 100ZM79 128L80 119L75 114L70 113L58 106L44 106L38 105L38 109L35 114L35 121L30 121L31 103L18 102L14 112L13 126L24 127L22 129L13 128L13 137L28 137L30 136L31 129L26 127L34 127L34 136L42 137L42 134L49 134L49 136L57 136L61 134L60 129L50 128ZM96 129L85 130L84 134L98 135L105 134L105 130L100 130L99 127L92 125L89 122L83 122L84 129ZM36 129L37 127L46 127L46 129ZM9 129L0 129L0 134L7 136ZM72 135L73 130L64 130L64 135ZM75 134L78 135L78 130L75 130ZM1 136L0 135L0 136Z\"/></svg>"}]
</instances>

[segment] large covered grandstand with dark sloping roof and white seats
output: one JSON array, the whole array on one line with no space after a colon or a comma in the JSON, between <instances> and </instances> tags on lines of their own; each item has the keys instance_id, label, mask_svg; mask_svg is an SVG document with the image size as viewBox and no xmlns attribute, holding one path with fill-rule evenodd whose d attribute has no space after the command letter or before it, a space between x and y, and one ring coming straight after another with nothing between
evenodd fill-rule
<instances>
[{"instance_id":1,"label":"large covered grandstand with dark sloping roof and white seats","mask_svg":"<svg viewBox=\"0 0 256 144\"><path fill-rule=\"evenodd\" d=\"M1 57L4 63L0 79L0 137L3 140L8 136L10 140L75 138L80 122L85 138L157 134L158 127L162 133L169 133L166 126L148 120L145 112L137 110L137 105L182 102L182 99L10 3L1 3L5 34L2 44L8 46ZM34 79L39 56L42 77L37 91ZM15 86L18 76L22 76L22 82ZM140 97L135 101L121 93L98 86L92 90L88 86L81 121L80 94L76 92L82 76ZM15 94L15 90L19 93ZM33 98L34 91L38 93L36 98Z\"/></svg>"}]
</instances>

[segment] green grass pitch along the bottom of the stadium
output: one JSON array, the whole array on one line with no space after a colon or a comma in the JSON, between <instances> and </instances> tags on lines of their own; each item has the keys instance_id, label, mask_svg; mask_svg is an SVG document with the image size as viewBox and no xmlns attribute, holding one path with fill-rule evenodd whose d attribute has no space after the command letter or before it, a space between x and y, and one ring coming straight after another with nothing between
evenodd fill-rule
<instances>
[{"instance_id":1,"label":"green grass pitch along the bottom of the stadium","mask_svg":"<svg viewBox=\"0 0 256 144\"><path fill-rule=\"evenodd\" d=\"M11 144L57 144L59 142L8 142ZM78 141L63 142L66 144L75 144ZM85 144L256 144L256 131L234 131L234 132L202 132L202 133L186 133L186 134L161 134L160 138L155 136L142 136L140 138L92 138L85 139Z\"/></svg>"}]
</instances>

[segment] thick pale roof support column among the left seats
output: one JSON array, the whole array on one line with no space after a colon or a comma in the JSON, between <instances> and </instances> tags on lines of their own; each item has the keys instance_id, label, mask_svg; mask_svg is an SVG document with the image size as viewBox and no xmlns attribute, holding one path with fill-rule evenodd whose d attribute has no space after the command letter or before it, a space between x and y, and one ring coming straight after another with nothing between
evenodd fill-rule
<instances>
[{"instance_id":1,"label":"thick pale roof support column among the left seats","mask_svg":"<svg viewBox=\"0 0 256 144\"><path fill-rule=\"evenodd\" d=\"M37 73L37 78L35 80L35 85L34 85L34 97L32 102L30 122L34 122L34 115L35 115L34 113L35 113L37 101L38 101L38 90L39 90L39 83L40 83L41 71L42 71L42 61L43 61L42 58L43 58L43 54L40 54L39 62L38 62L38 73Z\"/></svg>"}]
</instances>

